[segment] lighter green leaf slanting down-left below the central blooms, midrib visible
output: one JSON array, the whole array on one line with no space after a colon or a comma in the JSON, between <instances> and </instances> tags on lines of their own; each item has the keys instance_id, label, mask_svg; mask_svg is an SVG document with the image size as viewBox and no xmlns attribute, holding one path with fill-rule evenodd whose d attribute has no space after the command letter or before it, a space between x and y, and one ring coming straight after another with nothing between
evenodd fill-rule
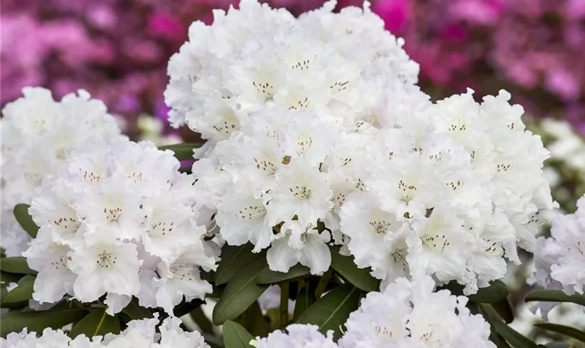
<instances>
[{"instance_id":1,"label":"lighter green leaf slanting down-left below the central blooms, midrib visible","mask_svg":"<svg viewBox=\"0 0 585 348\"><path fill-rule=\"evenodd\" d=\"M260 258L232 278L213 308L213 324L221 325L228 319L235 319L260 297L268 288L268 285L256 284L256 276L264 267L266 260Z\"/></svg>"}]
</instances>

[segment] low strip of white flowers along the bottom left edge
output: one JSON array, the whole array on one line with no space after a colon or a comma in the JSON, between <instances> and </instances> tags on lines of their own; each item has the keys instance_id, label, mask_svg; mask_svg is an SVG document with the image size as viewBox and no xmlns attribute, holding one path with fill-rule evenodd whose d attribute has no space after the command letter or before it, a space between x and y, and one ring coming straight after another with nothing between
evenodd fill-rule
<instances>
[{"instance_id":1,"label":"low strip of white flowers along the bottom left edge","mask_svg":"<svg viewBox=\"0 0 585 348\"><path fill-rule=\"evenodd\" d=\"M27 332L10 333L8 337L0 338L1 347L6 348L209 348L198 331L185 332L180 328L180 319L168 317L159 326L159 333L155 331L159 319L157 314L153 319L132 320L119 335L108 333L104 337L88 338L78 335L71 339L61 330L45 329L41 335Z\"/></svg>"}]
</instances>

